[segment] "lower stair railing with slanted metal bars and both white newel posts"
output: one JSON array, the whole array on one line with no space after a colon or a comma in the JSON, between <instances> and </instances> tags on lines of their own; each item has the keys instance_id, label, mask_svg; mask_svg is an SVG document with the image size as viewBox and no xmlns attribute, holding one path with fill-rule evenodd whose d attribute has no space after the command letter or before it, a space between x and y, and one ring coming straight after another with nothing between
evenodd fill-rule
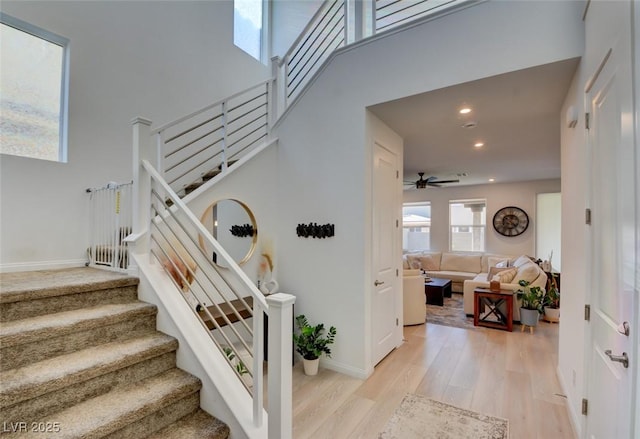
<instances>
[{"instance_id":1,"label":"lower stair railing with slanted metal bars and both white newel posts","mask_svg":"<svg viewBox=\"0 0 640 439\"><path fill-rule=\"evenodd\" d=\"M128 240L135 242L137 255L161 264L182 291L194 318L209 334L212 349L226 359L251 396L256 427L264 422L263 319L268 317L268 437L291 438L295 297L282 293L265 297L213 238L152 165L150 125L145 119L133 121L134 213ZM213 248L217 263L205 248Z\"/></svg>"}]
</instances>

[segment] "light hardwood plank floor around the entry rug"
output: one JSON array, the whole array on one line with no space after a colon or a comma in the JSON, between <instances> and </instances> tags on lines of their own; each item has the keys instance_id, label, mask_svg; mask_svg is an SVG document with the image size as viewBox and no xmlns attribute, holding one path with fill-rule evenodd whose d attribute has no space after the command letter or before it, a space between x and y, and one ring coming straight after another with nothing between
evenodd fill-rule
<instances>
[{"instance_id":1,"label":"light hardwood plank floor around the entry rug","mask_svg":"<svg viewBox=\"0 0 640 439\"><path fill-rule=\"evenodd\" d=\"M293 437L377 438L407 392L507 418L512 439L575 437L556 378L557 324L530 334L427 323L404 338L366 381L323 368L307 377L296 364Z\"/></svg>"}]
</instances>

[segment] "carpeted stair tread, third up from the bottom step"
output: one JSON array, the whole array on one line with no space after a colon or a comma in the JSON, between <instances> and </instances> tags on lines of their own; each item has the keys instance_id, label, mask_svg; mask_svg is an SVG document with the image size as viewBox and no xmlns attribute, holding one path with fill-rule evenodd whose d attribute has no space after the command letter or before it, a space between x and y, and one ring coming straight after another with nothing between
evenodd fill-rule
<instances>
[{"instance_id":1,"label":"carpeted stair tread, third up from the bottom step","mask_svg":"<svg viewBox=\"0 0 640 439\"><path fill-rule=\"evenodd\" d=\"M0 372L0 407L110 373L177 347L178 342L173 337L154 333Z\"/></svg>"}]
</instances>

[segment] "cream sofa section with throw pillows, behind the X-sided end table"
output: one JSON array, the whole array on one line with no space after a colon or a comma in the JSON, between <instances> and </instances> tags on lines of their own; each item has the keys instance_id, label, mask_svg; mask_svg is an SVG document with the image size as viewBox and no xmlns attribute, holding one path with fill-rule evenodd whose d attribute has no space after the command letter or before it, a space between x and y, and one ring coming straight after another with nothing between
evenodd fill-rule
<instances>
[{"instance_id":1,"label":"cream sofa section with throw pillows, behind the X-sided end table","mask_svg":"<svg viewBox=\"0 0 640 439\"><path fill-rule=\"evenodd\" d=\"M538 286L544 291L547 285L547 275L545 272L527 256L520 256L512 261L510 267L506 270L500 271L494 275L494 271L479 273L472 280L464 281L463 286L463 303L464 312L467 315L473 315L474 307L474 290L476 288L489 288L489 281L491 279L500 281L500 288L503 290L516 291L520 289L520 280L526 280L530 282L531 286ZM513 274L513 277L511 277ZM514 297L513 300L513 320L520 321L520 301Z\"/></svg>"}]
</instances>

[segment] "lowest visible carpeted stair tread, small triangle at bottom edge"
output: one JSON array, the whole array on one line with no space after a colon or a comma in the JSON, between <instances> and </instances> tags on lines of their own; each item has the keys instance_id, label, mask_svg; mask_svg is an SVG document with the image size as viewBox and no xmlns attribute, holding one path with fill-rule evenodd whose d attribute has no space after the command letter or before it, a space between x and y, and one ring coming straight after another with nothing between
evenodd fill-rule
<instances>
[{"instance_id":1,"label":"lowest visible carpeted stair tread, small triangle at bottom edge","mask_svg":"<svg viewBox=\"0 0 640 439\"><path fill-rule=\"evenodd\" d=\"M229 436L229 426L202 409L185 416L148 439L224 439Z\"/></svg>"}]
</instances>

